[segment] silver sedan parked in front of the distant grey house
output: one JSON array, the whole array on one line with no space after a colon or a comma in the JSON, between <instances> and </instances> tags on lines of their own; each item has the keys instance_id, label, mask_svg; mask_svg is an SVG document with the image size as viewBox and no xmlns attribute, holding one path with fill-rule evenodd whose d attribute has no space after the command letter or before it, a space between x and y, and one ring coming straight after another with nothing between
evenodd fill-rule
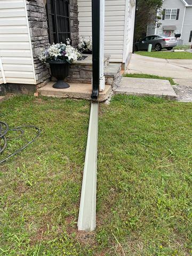
<instances>
[{"instance_id":1,"label":"silver sedan parked in front of the distant grey house","mask_svg":"<svg viewBox=\"0 0 192 256\"><path fill-rule=\"evenodd\" d=\"M162 49L172 50L177 45L175 37L167 35L151 35L146 36L141 41L134 44L135 51L147 50L149 44L152 44L152 49L161 51Z\"/></svg>"}]
</instances>

